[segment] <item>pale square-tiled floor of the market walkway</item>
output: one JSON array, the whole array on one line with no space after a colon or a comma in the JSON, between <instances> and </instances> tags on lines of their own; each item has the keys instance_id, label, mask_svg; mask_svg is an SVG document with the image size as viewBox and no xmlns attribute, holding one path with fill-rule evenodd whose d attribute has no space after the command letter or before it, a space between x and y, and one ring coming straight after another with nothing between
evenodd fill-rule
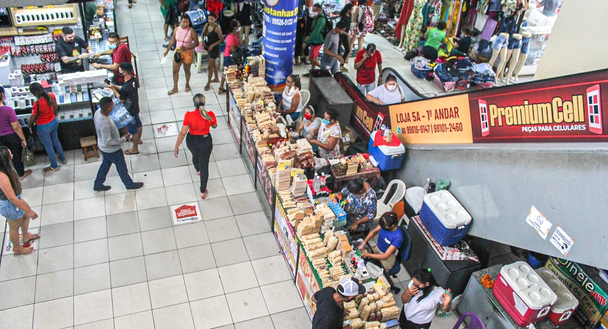
<instances>
[{"instance_id":1,"label":"pale square-tiled floor of the market walkway","mask_svg":"<svg viewBox=\"0 0 608 329\"><path fill-rule=\"evenodd\" d=\"M140 155L126 161L145 186L127 192L112 168L106 181L112 189L94 192L99 159L85 162L79 150L67 151L68 165L44 174L49 161L38 157L23 181L23 197L40 216L30 227L40 229L41 239L32 255L1 259L0 328L310 328L227 130L218 84L205 92L206 73L193 73L193 91L185 93L181 72L180 91L166 96L171 64L159 64L164 40L158 7L156 0L140 0L129 10L124 1L116 10L120 35L130 37L138 55L145 124ZM376 38L385 66L400 67L400 55L392 56L384 38L370 36ZM198 201L199 178L188 166L185 143L174 158L177 137L154 138L151 127L179 123L197 92L218 115L204 201ZM169 206L196 201L204 221L173 226ZM404 270L399 279L409 280ZM433 327L445 323L438 319Z\"/></svg>"}]
</instances>

